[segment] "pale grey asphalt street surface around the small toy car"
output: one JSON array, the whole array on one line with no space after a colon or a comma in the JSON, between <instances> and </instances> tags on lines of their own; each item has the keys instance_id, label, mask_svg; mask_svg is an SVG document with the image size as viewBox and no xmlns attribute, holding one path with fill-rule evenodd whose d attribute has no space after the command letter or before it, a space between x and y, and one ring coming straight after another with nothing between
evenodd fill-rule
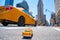
<instances>
[{"instance_id":1,"label":"pale grey asphalt street surface around the small toy car","mask_svg":"<svg viewBox=\"0 0 60 40\"><path fill-rule=\"evenodd\" d=\"M55 27L30 27L31 39L23 39L22 32L27 27L0 27L0 40L60 40L60 31Z\"/></svg>"}]
</instances>

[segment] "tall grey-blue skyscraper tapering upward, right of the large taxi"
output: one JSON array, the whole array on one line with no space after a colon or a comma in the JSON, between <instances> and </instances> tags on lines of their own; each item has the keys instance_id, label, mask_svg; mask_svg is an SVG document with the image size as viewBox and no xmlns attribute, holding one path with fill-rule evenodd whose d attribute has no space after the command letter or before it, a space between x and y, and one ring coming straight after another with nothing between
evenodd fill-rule
<instances>
[{"instance_id":1,"label":"tall grey-blue skyscraper tapering upward, right of the large taxi","mask_svg":"<svg viewBox=\"0 0 60 40\"><path fill-rule=\"evenodd\" d=\"M44 14L43 14L43 2L42 0L38 1L38 19L37 19L37 25L43 25L44 23Z\"/></svg>"}]
</instances>

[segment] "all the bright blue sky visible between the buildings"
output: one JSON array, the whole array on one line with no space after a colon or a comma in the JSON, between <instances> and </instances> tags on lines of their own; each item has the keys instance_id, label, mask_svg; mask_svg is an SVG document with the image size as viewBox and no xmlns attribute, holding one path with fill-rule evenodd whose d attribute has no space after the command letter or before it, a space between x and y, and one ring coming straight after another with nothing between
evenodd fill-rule
<instances>
[{"instance_id":1,"label":"all the bright blue sky visible between the buildings","mask_svg":"<svg viewBox=\"0 0 60 40\"><path fill-rule=\"evenodd\" d=\"M23 0L14 0L14 6L16 6L17 3L22 2ZM29 5L29 11L33 12L33 16L37 15L37 4L38 0L26 0ZM0 0L0 6L4 5L5 0ZM46 15L46 19L48 22L50 21L51 12L55 12L54 9L54 0L43 0L44 4L44 14ZM46 12L45 9L50 10L51 12Z\"/></svg>"}]
</instances>

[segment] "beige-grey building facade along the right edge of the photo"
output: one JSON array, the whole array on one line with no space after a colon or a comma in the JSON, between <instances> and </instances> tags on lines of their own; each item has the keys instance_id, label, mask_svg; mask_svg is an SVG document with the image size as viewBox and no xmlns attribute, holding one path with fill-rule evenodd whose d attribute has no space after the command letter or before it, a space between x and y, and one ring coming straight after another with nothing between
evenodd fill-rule
<instances>
[{"instance_id":1,"label":"beige-grey building facade along the right edge of the photo","mask_svg":"<svg viewBox=\"0 0 60 40\"><path fill-rule=\"evenodd\" d=\"M60 24L60 0L54 0L55 12L56 12L56 23Z\"/></svg>"}]
</instances>

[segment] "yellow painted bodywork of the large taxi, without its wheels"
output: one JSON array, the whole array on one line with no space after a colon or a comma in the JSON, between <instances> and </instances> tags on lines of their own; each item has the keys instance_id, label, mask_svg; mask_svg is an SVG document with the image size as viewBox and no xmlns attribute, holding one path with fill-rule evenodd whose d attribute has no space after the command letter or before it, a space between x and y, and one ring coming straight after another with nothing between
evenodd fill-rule
<instances>
[{"instance_id":1,"label":"yellow painted bodywork of the large taxi, without its wheels","mask_svg":"<svg viewBox=\"0 0 60 40\"><path fill-rule=\"evenodd\" d=\"M0 20L10 20L14 22L18 22L20 16L25 17L25 24L34 25L36 20L33 19L29 14L22 11L22 9L13 8L11 10L6 10L4 6L0 7Z\"/></svg>"}]
</instances>

